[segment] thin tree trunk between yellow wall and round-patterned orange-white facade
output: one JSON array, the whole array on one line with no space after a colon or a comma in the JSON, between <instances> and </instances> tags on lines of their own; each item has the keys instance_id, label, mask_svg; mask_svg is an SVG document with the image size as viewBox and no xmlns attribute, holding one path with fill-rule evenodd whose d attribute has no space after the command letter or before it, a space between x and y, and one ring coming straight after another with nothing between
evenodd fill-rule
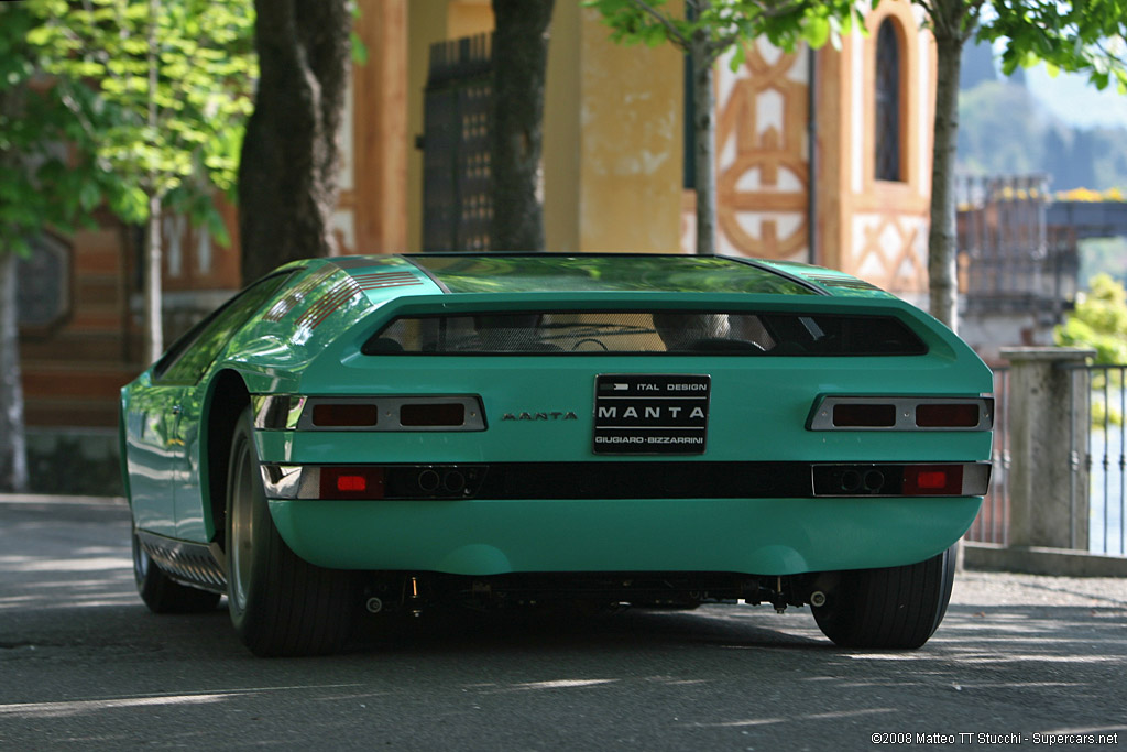
<instances>
[{"instance_id":1,"label":"thin tree trunk between yellow wall and round-patterned orange-white facade","mask_svg":"<svg viewBox=\"0 0 1127 752\"><path fill-rule=\"evenodd\" d=\"M712 56L707 32L692 38L693 143L696 188L696 253L716 253L716 97L712 92Z\"/></svg>"}]
</instances>

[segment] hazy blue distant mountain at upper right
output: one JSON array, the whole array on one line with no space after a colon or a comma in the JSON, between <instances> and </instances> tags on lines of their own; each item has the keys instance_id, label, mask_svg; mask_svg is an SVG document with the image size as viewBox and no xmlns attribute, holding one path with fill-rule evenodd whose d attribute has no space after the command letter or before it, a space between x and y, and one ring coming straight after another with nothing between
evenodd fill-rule
<instances>
[{"instance_id":1,"label":"hazy blue distant mountain at upper right","mask_svg":"<svg viewBox=\"0 0 1127 752\"><path fill-rule=\"evenodd\" d=\"M1086 124L1080 118L1070 122L1032 92L1048 90L1035 78L1037 70L1026 72L1028 87L1026 76L1004 79L988 45L967 44L959 81L959 170L978 175L1047 172L1054 191L1127 187L1127 97L1113 103L1124 106L1122 124L1113 117L1098 121L1091 116ZM1075 85L1075 80L1068 82L1072 89L1067 90L1076 101L1092 96ZM1097 122L1103 124L1094 125Z\"/></svg>"}]
</instances>

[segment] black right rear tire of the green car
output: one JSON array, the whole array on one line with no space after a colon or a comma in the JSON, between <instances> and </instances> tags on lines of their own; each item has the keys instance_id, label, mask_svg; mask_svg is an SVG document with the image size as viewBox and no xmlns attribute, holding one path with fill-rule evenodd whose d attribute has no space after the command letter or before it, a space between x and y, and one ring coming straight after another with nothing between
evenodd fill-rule
<instances>
[{"instance_id":1,"label":"black right rear tire of the green car","mask_svg":"<svg viewBox=\"0 0 1127 752\"><path fill-rule=\"evenodd\" d=\"M955 557L952 546L919 564L842 572L814 619L842 647L917 648L947 613Z\"/></svg>"}]
</instances>

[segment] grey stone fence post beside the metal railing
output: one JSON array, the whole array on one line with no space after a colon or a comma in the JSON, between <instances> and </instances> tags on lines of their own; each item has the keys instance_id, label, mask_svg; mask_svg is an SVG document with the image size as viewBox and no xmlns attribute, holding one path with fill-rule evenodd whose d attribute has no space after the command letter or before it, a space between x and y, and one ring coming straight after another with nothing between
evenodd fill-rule
<instances>
[{"instance_id":1,"label":"grey stone fence post beside the metal railing","mask_svg":"<svg viewBox=\"0 0 1127 752\"><path fill-rule=\"evenodd\" d=\"M1009 347L1010 534L1014 547L1086 548L1092 350Z\"/></svg>"}]
</instances>

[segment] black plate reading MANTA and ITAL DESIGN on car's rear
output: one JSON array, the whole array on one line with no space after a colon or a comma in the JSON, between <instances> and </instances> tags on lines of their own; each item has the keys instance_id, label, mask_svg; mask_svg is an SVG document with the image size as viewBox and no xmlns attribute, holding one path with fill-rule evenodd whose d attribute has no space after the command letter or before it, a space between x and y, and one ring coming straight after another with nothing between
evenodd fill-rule
<instances>
[{"instance_id":1,"label":"black plate reading MANTA and ITAL DESIGN on car's rear","mask_svg":"<svg viewBox=\"0 0 1127 752\"><path fill-rule=\"evenodd\" d=\"M707 375L595 377L596 454L703 454L708 439Z\"/></svg>"}]
</instances>

